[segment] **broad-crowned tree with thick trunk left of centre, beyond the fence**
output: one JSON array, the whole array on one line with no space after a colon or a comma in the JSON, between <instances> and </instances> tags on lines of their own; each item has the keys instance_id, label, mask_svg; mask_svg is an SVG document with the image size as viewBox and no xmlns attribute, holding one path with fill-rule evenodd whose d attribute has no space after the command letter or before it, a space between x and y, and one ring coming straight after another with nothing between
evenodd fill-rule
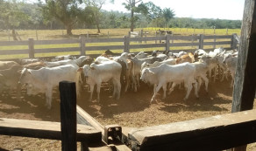
<instances>
[{"instance_id":1,"label":"broad-crowned tree with thick trunk left of centre, beyond the fence","mask_svg":"<svg viewBox=\"0 0 256 151\"><path fill-rule=\"evenodd\" d=\"M72 29L82 16L80 4L82 0L46 0L46 4L41 4L41 8L46 20L59 20L65 25L67 35L72 35Z\"/></svg>"}]
</instances>

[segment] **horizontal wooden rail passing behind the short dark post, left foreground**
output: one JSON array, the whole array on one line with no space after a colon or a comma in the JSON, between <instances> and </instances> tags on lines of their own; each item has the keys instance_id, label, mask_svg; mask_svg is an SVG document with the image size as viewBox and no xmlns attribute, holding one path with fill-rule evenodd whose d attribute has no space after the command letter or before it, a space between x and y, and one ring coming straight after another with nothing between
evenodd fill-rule
<instances>
[{"instance_id":1,"label":"horizontal wooden rail passing behind the short dark post, left foreground","mask_svg":"<svg viewBox=\"0 0 256 151\"><path fill-rule=\"evenodd\" d=\"M101 142L101 132L94 127L77 125L77 141ZM0 118L0 134L61 140L60 122Z\"/></svg>"}]
</instances>

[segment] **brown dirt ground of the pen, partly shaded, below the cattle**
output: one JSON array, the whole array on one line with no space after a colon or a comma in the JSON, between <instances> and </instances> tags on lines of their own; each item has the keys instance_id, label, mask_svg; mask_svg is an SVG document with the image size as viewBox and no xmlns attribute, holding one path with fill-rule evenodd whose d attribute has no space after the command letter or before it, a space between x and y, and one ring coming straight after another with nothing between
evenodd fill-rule
<instances>
[{"instance_id":1,"label":"brown dirt ground of the pen, partly shaded, below the cattle","mask_svg":"<svg viewBox=\"0 0 256 151\"><path fill-rule=\"evenodd\" d=\"M185 92L176 88L161 100L162 92L157 102L150 104L153 88L142 84L138 93L122 93L120 100L112 100L108 90L102 89L101 102L87 100L88 93L83 91L77 104L102 125L118 124L121 127L146 127L166 124L175 121L192 120L212 115L231 113L232 88L231 81L210 83L209 93L202 86L199 97L196 99L192 91L187 101L183 101ZM14 96L0 97L0 117L60 121L59 93L53 94L52 109L46 109L45 97L28 97L23 91L23 99L18 101ZM95 98L95 97L94 97ZM255 101L254 101L255 102ZM255 106L254 106L255 108ZM25 151L61 150L60 141L22 138L15 136L0 136L0 151L13 148L23 148ZM78 144L79 146L79 144ZM255 144L250 144L247 150L256 150Z\"/></svg>"}]
</instances>

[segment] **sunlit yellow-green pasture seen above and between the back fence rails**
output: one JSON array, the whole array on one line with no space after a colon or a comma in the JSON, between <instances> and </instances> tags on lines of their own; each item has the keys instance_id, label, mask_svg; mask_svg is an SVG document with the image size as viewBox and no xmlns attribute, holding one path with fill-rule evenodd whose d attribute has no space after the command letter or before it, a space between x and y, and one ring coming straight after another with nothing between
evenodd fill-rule
<instances>
[{"instance_id":1,"label":"sunlit yellow-green pasture seen above and between the back fence rails","mask_svg":"<svg viewBox=\"0 0 256 151\"><path fill-rule=\"evenodd\" d=\"M144 28L144 29L135 29L134 31L147 31L147 37L155 36L156 31L173 31L174 35L231 35L232 33L237 33L240 35L240 29L187 29L187 28ZM101 34L99 35L89 35L89 38L123 38L124 35L128 35L130 29L103 29L101 30ZM96 29L83 29L83 30L73 30L73 36L67 36L65 30L18 30L18 35L21 40L26 41L28 38L33 38L34 40L57 40L57 39L77 39L80 36L87 37L87 34L96 34ZM1 31L0 32L0 41L12 41L11 32L10 31ZM145 44L145 43L143 43ZM147 42L147 44L154 44L154 41ZM87 44L87 46L96 46L96 45L123 45L123 43L93 43ZM132 42L131 45L140 45L139 43ZM35 49L47 49L47 48L63 48L63 47L78 47L79 44L64 44L64 45L35 45ZM177 49L196 49L194 47L171 47L171 50ZM205 47L210 48L210 47ZM11 51L11 50L22 50L28 49L26 45L16 45L16 46L1 46L0 51ZM153 50L162 51L164 48L143 48L143 49L132 49L131 52L137 51L153 51ZM115 52L122 52L123 50L115 50ZM100 54L103 51L87 51L86 54ZM58 53L36 53L35 57L49 57L49 56L57 56L57 55L79 55L79 50L76 52L68 51L68 52L58 52ZM0 59L4 58L28 58L28 55L0 55Z\"/></svg>"}]
</instances>

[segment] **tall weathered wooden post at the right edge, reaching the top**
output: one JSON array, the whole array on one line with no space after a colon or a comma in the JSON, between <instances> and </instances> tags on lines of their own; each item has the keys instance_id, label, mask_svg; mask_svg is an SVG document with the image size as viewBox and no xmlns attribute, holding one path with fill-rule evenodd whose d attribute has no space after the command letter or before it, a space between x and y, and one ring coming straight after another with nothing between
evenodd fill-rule
<instances>
[{"instance_id":1,"label":"tall weathered wooden post at the right edge, reaching the top","mask_svg":"<svg viewBox=\"0 0 256 151\"><path fill-rule=\"evenodd\" d=\"M241 28L241 38L238 48L238 62L233 88L232 113L250 110L256 89L256 3L255 0L245 0L244 17ZM233 35L233 41L234 35ZM234 45L232 45L234 47ZM236 139L236 138L234 138ZM233 148L235 151L245 151L246 145Z\"/></svg>"}]
</instances>

